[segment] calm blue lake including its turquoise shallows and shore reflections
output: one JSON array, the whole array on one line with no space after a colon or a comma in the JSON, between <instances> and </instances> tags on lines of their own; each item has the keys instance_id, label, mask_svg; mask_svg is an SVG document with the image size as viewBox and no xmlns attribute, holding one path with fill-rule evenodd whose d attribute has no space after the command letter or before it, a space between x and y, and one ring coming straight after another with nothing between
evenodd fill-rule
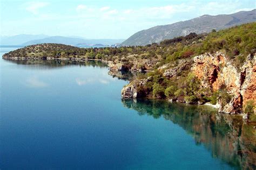
<instances>
[{"instance_id":1,"label":"calm blue lake including its turquoise shallows and shore reflections","mask_svg":"<svg viewBox=\"0 0 256 170\"><path fill-rule=\"evenodd\" d=\"M1 57L0 68L1 169L255 168L253 126L240 116L122 100L128 78L100 62Z\"/></svg>"}]
</instances>

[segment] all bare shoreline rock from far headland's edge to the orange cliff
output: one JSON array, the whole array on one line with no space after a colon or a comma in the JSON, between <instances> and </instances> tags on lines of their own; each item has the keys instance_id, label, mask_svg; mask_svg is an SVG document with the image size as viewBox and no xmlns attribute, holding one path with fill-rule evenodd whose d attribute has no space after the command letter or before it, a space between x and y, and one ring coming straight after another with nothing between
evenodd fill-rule
<instances>
[{"instance_id":1,"label":"all bare shoreline rock from far headland's edge to the orange cliff","mask_svg":"<svg viewBox=\"0 0 256 170\"><path fill-rule=\"evenodd\" d=\"M240 68L235 68L227 56L224 53L216 52L214 54L205 53L203 55L194 56L192 59L180 60L178 65L163 65L158 67L158 70L163 70L163 75L167 78L179 79L179 74L185 69L190 69L201 83L201 88L211 89L216 91L223 86L228 91L228 94L232 95L232 99L225 105L221 105L221 101L217 101L217 104L212 105L217 108L219 112L225 114L241 114L242 105L248 100L256 101L256 56L247 56L244 65ZM110 75L119 78L124 78L123 74L119 72L131 71L131 72L149 72L152 67L156 65L157 60L144 60L143 65L147 66L144 69L138 68L138 65L127 67L123 62L106 61L102 59L85 59L85 58L38 58L38 57L10 57L3 55L3 59L7 60L72 60L72 61L100 61L107 63L110 69ZM171 67L171 68L170 68ZM166 69L168 68L168 69ZM147 91L144 91L144 95L140 94L139 87L146 86L147 82L150 82L151 76L146 79L134 79L127 86L125 86L121 95L122 98L151 98L147 96ZM127 79L131 80L131 79ZM197 103L189 102L179 98L166 98L169 102L180 102L187 104L206 104L198 101Z\"/></svg>"}]
</instances>

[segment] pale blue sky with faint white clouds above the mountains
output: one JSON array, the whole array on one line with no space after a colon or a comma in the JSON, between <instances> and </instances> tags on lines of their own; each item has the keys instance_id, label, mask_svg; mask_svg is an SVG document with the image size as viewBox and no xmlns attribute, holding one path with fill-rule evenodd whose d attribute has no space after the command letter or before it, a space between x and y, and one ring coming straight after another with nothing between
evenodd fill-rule
<instances>
[{"instance_id":1,"label":"pale blue sky with faint white clouds above the mountains","mask_svg":"<svg viewBox=\"0 0 256 170\"><path fill-rule=\"evenodd\" d=\"M157 25L254 8L255 0L0 0L0 33L126 39Z\"/></svg>"}]
</instances>

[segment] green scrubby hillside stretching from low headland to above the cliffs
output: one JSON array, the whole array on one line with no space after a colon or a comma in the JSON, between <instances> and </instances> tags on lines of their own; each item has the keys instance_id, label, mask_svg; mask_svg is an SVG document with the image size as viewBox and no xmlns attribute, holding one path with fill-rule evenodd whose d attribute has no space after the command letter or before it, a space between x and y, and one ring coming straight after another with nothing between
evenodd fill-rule
<instances>
[{"instance_id":1,"label":"green scrubby hillside stretching from low headland to above the cliffs","mask_svg":"<svg viewBox=\"0 0 256 170\"><path fill-rule=\"evenodd\" d=\"M157 58L161 63L169 63L205 52L223 50L235 62L242 63L245 56L254 53L255 38L256 23L250 23L218 32L212 31L209 34L190 33L185 37L164 40L160 44L154 43L147 46L78 48L61 44L40 44L17 49L7 55L35 58L51 56L53 58L102 59L107 61L118 59L120 62L127 55L134 55L134 58ZM132 63L130 61L126 62Z\"/></svg>"}]
</instances>

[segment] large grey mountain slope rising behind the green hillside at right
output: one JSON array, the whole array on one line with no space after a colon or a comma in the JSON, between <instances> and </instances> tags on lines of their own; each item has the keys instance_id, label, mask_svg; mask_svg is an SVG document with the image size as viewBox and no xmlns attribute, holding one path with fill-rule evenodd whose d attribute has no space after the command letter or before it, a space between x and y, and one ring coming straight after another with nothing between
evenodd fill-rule
<instances>
[{"instance_id":1,"label":"large grey mountain slope rising behind the green hillside at right","mask_svg":"<svg viewBox=\"0 0 256 170\"><path fill-rule=\"evenodd\" d=\"M139 31L124 42L121 46L137 46L160 42L165 39L186 36L191 32L206 33L213 29L222 30L235 25L256 21L256 10L240 11L231 15L203 15L198 18L186 20L169 25L155 26L148 30Z\"/></svg>"}]
</instances>

